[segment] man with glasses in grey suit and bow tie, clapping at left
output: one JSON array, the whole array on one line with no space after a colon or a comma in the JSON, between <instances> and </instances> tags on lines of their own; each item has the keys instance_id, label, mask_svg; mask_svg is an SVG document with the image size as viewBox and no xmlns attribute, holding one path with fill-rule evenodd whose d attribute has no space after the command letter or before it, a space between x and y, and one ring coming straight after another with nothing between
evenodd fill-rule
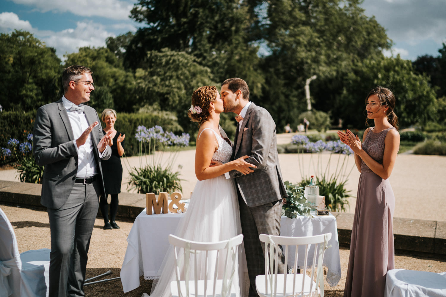
<instances>
[{"instance_id":1,"label":"man with glasses in grey suit and bow tie, clapping at left","mask_svg":"<svg viewBox=\"0 0 446 297\"><path fill-rule=\"evenodd\" d=\"M50 219L51 297L85 296L87 253L104 191L101 159L111 155L98 114L82 104L95 90L91 74L80 65L66 68L64 96L41 106L34 122L34 157L45 166L41 204Z\"/></svg>"}]
</instances>

